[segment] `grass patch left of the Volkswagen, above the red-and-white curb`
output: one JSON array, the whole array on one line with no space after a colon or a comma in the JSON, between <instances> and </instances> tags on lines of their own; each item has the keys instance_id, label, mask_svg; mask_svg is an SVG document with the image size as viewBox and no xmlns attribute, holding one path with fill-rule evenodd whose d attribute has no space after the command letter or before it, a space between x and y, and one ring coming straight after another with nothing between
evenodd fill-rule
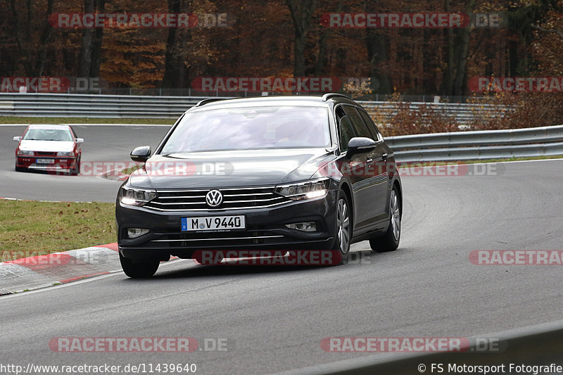
<instances>
[{"instance_id":1,"label":"grass patch left of the Volkswagen, above the red-and-white curb","mask_svg":"<svg viewBox=\"0 0 563 375\"><path fill-rule=\"evenodd\" d=\"M26 251L42 255L115 241L114 203L0 200L2 262L11 253L20 258Z\"/></svg>"}]
</instances>

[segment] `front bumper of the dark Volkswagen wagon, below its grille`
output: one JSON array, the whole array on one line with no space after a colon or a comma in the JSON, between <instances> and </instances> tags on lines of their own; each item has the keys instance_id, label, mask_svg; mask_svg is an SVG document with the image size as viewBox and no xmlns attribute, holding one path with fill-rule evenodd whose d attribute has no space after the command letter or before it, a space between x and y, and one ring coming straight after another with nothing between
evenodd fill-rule
<instances>
[{"instance_id":1,"label":"front bumper of the dark Volkswagen wagon, below its grille","mask_svg":"<svg viewBox=\"0 0 563 375\"><path fill-rule=\"evenodd\" d=\"M334 243L338 191L307 201L291 201L270 208L162 212L116 203L118 246L125 258L158 258L170 255L191 258L196 250L327 250ZM245 215L246 229L239 231L181 231L182 217ZM315 222L317 231L289 229L285 224ZM136 239L127 229L149 229Z\"/></svg>"}]
</instances>

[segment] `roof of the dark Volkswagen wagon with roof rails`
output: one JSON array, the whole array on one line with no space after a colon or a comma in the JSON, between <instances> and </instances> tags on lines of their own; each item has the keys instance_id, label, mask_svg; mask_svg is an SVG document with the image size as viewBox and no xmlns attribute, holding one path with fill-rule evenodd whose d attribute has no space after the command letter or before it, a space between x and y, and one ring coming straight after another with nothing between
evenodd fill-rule
<instances>
[{"instance_id":1,"label":"roof of the dark Volkswagen wagon with roof rails","mask_svg":"<svg viewBox=\"0 0 563 375\"><path fill-rule=\"evenodd\" d=\"M251 98L207 98L203 99L196 106L189 109L189 112L196 109L210 108L236 108L250 106L326 106L327 102L339 102L357 104L344 94L329 93L323 96L254 96Z\"/></svg>"}]
</instances>

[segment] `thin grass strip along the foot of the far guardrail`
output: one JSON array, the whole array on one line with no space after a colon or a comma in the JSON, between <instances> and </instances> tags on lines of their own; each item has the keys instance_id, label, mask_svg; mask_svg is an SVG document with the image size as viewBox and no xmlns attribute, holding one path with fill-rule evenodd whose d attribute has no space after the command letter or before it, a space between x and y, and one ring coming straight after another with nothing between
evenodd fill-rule
<instances>
[{"instance_id":1,"label":"thin grass strip along the foot of the far guardrail","mask_svg":"<svg viewBox=\"0 0 563 375\"><path fill-rule=\"evenodd\" d=\"M179 117L179 116L178 116ZM174 118L94 118L0 116L0 124L147 124L174 125Z\"/></svg>"}]
</instances>

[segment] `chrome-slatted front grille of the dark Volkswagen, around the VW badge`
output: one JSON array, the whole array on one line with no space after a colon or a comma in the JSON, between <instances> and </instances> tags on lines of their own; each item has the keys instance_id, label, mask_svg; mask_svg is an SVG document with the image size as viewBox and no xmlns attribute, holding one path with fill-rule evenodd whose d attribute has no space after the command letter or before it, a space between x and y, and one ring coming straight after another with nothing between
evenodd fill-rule
<instances>
[{"instance_id":1,"label":"chrome-slatted front grille of the dark Volkswagen, around the VW badge","mask_svg":"<svg viewBox=\"0 0 563 375\"><path fill-rule=\"evenodd\" d=\"M160 211L236 210L265 208L290 202L289 198L274 193L274 186L218 189L223 201L217 207L205 203L205 194L212 189L158 190L158 197L144 207Z\"/></svg>"}]
</instances>

